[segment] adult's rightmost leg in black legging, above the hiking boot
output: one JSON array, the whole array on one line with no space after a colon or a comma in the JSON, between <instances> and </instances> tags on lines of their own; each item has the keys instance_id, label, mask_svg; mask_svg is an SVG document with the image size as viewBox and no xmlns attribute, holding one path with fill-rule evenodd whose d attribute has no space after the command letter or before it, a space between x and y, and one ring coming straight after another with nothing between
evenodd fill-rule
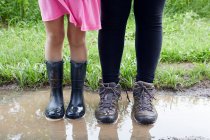
<instances>
[{"instance_id":1,"label":"adult's rightmost leg in black legging, above the hiking boot","mask_svg":"<svg viewBox=\"0 0 210 140\"><path fill-rule=\"evenodd\" d=\"M135 0L137 81L152 83L162 45L165 0Z\"/></svg>"}]
</instances>

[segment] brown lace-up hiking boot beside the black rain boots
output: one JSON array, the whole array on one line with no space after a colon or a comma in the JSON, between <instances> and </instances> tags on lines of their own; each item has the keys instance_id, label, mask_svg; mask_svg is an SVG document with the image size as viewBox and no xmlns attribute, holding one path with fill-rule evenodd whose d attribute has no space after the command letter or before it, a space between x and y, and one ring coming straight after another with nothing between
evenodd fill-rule
<instances>
[{"instance_id":1,"label":"brown lace-up hiking boot beside the black rain boots","mask_svg":"<svg viewBox=\"0 0 210 140\"><path fill-rule=\"evenodd\" d=\"M114 123L118 118L118 100L120 85L104 83L100 87L100 102L95 111L96 119L101 123Z\"/></svg>"}]
</instances>

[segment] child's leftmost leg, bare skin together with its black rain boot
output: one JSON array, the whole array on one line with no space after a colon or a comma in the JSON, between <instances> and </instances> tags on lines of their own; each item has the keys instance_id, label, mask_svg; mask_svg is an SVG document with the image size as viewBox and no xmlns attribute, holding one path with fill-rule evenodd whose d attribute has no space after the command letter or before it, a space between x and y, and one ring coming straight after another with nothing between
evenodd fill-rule
<instances>
[{"instance_id":1,"label":"child's leftmost leg, bare skin together with its black rain boot","mask_svg":"<svg viewBox=\"0 0 210 140\"><path fill-rule=\"evenodd\" d=\"M63 102L63 61L62 46L64 39L63 17L45 22L47 41L45 58L50 83L50 102L45 110L47 119L59 120L64 116Z\"/></svg>"}]
</instances>

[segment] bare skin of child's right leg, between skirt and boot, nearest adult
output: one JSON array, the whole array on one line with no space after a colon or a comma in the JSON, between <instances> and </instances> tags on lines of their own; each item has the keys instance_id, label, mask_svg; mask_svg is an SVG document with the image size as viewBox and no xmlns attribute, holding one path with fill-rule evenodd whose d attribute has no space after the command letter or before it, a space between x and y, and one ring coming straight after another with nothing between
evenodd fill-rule
<instances>
[{"instance_id":1,"label":"bare skin of child's right leg, between skirt and boot, nearest adult","mask_svg":"<svg viewBox=\"0 0 210 140\"><path fill-rule=\"evenodd\" d=\"M75 27L72 23L68 24L67 36L70 45L71 60L84 62L87 60L87 49L85 32Z\"/></svg>"}]
</instances>

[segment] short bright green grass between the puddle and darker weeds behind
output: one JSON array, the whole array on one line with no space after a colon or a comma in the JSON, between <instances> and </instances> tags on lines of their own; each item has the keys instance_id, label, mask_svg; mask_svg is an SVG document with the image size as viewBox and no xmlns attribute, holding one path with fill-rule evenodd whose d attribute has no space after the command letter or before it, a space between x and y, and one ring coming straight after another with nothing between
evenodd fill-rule
<instances>
[{"instance_id":1,"label":"short bright green grass between the puddle and darker weeds behind","mask_svg":"<svg viewBox=\"0 0 210 140\"><path fill-rule=\"evenodd\" d=\"M155 85L159 88L189 87L210 80L210 20L193 12L164 18L164 39ZM128 21L125 50L121 65L122 86L130 88L136 74L134 20ZM44 26L19 22L15 27L0 28L0 85L17 83L20 87L47 84L44 63ZM89 65L86 85L98 87L101 67L97 50L97 32L87 37ZM64 43L64 84L70 83L68 43ZM171 63L193 63L194 67L171 66ZM165 67L162 67L165 65Z\"/></svg>"}]
</instances>

